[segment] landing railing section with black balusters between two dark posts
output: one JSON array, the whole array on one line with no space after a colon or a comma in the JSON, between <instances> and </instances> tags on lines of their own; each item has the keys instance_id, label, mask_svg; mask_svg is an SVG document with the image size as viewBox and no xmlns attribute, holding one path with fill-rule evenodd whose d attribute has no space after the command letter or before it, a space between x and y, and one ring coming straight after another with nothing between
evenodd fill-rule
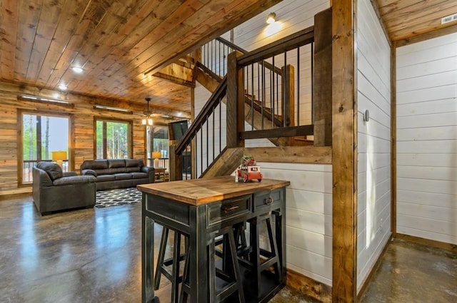
<instances>
[{"instance_id":1,"label":"landing railing section with black balusters between two dark posts","mask_svg":"<svg viewBox=\"0 0 457 303\"><path fill-rule=\"evenodd\" d=\"M313 135L313 42L311 26L236 58L241 139Z\"/></svg>"}]
</instances>

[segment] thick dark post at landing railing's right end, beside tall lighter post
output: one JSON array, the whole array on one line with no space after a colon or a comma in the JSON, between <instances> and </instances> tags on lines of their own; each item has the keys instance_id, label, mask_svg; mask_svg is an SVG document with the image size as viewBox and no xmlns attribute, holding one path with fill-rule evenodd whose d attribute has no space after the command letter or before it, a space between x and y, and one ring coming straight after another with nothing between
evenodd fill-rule
<instances>
[{"instance_id":1,"label":"thick dark post at landing railing's right end, beside tall lighter post","mask_svg":"<svg viewBox=\"0 0 457 303\"><path fill-rule=\"evenodd\" d=\"M314 16L314 146L331 146L331 8Z\"/></svg>"}]
</instances>

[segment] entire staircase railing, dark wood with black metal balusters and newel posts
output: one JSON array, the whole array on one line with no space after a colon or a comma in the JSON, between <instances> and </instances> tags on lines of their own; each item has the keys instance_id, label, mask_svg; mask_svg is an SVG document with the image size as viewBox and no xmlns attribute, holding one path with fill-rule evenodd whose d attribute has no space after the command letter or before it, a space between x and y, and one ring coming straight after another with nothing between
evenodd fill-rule
<instances>
[{"instance_id":1,"label":"entire staircase railing, dark wood with black metal balusters and newel posts","mask_svg":"<svg viewBox=\"0 0 457 303\"><path fill-rule=\"evenodd\" d=\"M206 73L228 74L181 141L171 145L171 180L190 178L190 171L199 178L240 140L313 134L313 34L311 27L249 53L221 38L202 46ZM191 165L184 163L190 151Z\"/></svg>"}]
</instances>

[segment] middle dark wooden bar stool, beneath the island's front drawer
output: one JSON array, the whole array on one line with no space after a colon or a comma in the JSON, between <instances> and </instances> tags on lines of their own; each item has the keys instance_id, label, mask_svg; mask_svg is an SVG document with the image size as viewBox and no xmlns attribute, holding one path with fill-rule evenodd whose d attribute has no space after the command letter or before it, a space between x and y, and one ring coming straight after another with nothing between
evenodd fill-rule
<instances>
[{"instance_id":1,"label":"middle dark wooden bar stool, beneath the island's front drawer","mask_svg":"<svg viewBox=\"0 0 457 303\"><path fill-rule=\"evenodd\" d=\"M216 250L214 248L216 242L213 241L213 243L209 246L209 301L221 302L231 295L237 294L237 301L244 303L245 300L243 283L241 279L240 269L238 267L238 257L236 255L238 245L236 245L235 237L233 235L233 227L229 226L221 228L221 230L219 230L219 232L217 232L214 237L219 237L219 235L224 236L224 249L222 250L222 269L216 267ZM189 294L191 293L189 285L189 255L190 254L188 252L186 256L186 262L184 263L183 283L181 286L181 294L179 296L180 303L187 302ZM224 287L221 287L221 289L216 289L216 279L221 279L225 284Z\"/></svg>"}]
</instances>

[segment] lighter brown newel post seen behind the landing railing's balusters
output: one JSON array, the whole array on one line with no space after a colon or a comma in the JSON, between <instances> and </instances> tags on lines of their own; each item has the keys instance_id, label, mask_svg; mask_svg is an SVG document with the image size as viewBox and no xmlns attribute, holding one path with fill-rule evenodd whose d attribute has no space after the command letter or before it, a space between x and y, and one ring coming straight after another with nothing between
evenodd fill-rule
<instances>
[{"instance_id":1,"label":"lighter brown newel post seen behind the landing railing's balusters","mask_svg":"<svg viewBox=\"0 0 457 303\"><path fill-rule=\"evenodd\" d=\"M283 71L283 83L281 85L281 96L284 97L283 119L286 121L286 126L295 126L295 68L288 64L281 69ZM297 124L299 125L299 123Z\"/></svg>"}]
</instances>

